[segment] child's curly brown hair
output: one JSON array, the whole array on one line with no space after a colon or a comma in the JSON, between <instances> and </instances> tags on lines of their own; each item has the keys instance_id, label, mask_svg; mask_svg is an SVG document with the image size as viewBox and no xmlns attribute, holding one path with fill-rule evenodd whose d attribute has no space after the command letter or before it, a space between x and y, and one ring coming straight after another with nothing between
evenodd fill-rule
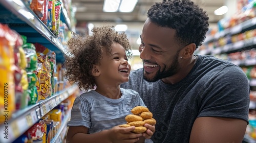
<instances>
[{"instance_id":1,"label":"child's curly brown hair","mask_svg":"<svg viewBox=\"0 0 256 143\"><path fill-rule=\"evenodd\" d=\"M94 89L93 64L98 64L102 59L103 48L106 49L107 55L111 55L111 46L114 42L124 47L128 58L132 56L126 34L116 32L113 26L95 27L92 29L92 36L75 35L68 41L69 51L65 56L66 78L76 82L80 90Z\"/></svg>"}]
</instances>

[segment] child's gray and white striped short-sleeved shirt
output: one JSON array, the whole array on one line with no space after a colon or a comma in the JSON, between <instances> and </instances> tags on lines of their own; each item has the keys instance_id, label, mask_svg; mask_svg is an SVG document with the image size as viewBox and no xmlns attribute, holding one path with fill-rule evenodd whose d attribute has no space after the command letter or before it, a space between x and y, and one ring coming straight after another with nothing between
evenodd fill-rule
<instances>
[{"instance_id":1,"label":"child's gray and white striped short-sleeved shirt","mask_svg":"<svg viewBox=\"0 0 256 143\"><path fill-rule=\"evenodd\" d=\"M68 126L84 126L90 134L126 124L124 118L132 108L145 105L138 92L121 88L121 93L119 99L106 98L95 90L81 94L74 101Z\"/></svg>"}]
</instances>

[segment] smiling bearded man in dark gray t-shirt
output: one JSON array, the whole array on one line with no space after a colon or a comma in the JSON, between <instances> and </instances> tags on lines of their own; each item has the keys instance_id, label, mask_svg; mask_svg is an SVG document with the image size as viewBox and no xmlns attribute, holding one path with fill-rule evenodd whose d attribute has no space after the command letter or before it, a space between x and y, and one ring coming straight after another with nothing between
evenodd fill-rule
<instances>
[{"instance_id":1,"label":"smiling bearded man in dark gray t-shirt","mask_svg":"<svg viewBox=\"0 0 256 143\"><path fill-rule=\"evenodd\" d=\"M242 69L194 55L208 16L189 0L156 3L147 12L139 46L143 68L121 85L139 92L157 124L154 142L242 142L249 85Z\"/></svg>"}]
</instances>

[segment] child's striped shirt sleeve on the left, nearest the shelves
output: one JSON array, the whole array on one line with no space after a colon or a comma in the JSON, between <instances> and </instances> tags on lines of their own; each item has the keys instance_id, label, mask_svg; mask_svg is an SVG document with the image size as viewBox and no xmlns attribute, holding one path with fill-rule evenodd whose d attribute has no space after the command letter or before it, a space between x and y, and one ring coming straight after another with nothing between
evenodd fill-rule
<instances>
[{"instance_id":1,"label":"child's striped shirt sleeve on the left, nearest the shelves","mask_svg":"<svg viewBox=\"0 0 256 143\"><path fill-rule=\"evenodd\" d=\"M90 106L87 100L77 97L74 101L71 118L67 126L84 126L88 129L91 127Z\"/></svg>"}]
</instances>

